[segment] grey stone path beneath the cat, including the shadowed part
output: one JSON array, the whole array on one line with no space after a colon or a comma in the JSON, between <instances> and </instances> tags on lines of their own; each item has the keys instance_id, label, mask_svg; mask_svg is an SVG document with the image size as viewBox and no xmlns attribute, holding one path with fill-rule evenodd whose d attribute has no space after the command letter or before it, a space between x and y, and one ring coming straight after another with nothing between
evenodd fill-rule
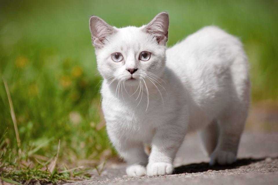
<instances>
[{"instance_id":1,"label":"grey stone path beneath the cat, including the shadowed part","mask_svg":"<svg viewBox=\"0 0 278 185\"><path fill-rule=\"evenodd\" d=\"M125 164L108 162L101 175L67 185L88 184L278 184L278 132L251 132L242 135L238 160L229 166L209 166L197 134L187 135L174 162L173 175L133 177Z\"/></svg>"}]
</instances>

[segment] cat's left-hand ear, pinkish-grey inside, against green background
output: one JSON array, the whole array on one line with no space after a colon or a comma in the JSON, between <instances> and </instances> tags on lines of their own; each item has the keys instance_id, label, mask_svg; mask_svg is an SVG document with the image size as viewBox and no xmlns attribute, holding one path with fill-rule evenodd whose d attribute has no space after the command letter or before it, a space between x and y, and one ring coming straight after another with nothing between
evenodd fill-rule
<instances>
[{"instance_id":1,"label":"cat's left-hand ear, pinkish-grey inside, against green background","mask_svg":"<svg viewBox=\"0 0 278 185\"><path fill-rule=\"evenodd\" d=\"M97 48L101 48L105 44L105 39L111 36L116 30L107 24L103 19L98 16L91 16L90 21L90 32L92 34L93 45Z\"/></svg>"}]
</instances>

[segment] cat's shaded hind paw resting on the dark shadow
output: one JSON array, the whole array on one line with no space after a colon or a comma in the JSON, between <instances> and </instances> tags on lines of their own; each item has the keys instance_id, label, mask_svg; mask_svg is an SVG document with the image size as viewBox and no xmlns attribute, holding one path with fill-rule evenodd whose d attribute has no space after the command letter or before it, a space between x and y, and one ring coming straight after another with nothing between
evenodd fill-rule
<instances>
[{"instance_id":1,"label":"cat's shaded hind paw resting on the dark shadow","mask_svg":"<svg viewBox=\"0 0 278 185\"><path fill-rule=\"evenodd\" d=\"M237 159L236 155L231 151L214 151L210 158L210 165L214 165L216 163L220 165L232 164Z\"/></svg>"}]
</instances>

